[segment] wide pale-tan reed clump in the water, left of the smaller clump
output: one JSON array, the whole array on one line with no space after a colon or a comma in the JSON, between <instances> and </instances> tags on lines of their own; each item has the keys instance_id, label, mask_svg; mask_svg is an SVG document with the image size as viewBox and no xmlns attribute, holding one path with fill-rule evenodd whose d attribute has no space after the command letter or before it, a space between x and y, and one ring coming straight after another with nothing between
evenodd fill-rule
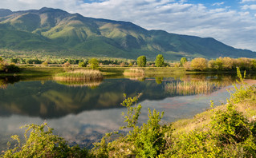
<instances>
[{"instance_id":1,"label":"wide pale-tan reed clump in the water, left of the smaller clump","mask_svg":"<svg viewBox=\"0 0 256 158\"><path fill-rule=\"evenodd\" d=\"M103 75L99 70L77 69L65 73L57 73L54 77L57 81L93 81L102 80Z\"/></svg>"}]
</instances>

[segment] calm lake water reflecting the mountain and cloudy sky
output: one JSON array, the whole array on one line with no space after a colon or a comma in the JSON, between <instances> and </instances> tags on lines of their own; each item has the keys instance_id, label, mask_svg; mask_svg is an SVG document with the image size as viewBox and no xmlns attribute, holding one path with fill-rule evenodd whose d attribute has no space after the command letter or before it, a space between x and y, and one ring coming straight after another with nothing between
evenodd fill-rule
<instances>
[{"instance_id":1,"label":"calm lake water reflecting the mountain and cloudy sky","mask_svg":"<svg viewBox=\"0 0 256 158\"><path fill-rule=\"evenodd\" d=\"M165 111L162 124L209 109L209 101L216 105L230 97L226 89L234 77L227 75L188 75L143 79L114 78L95 83L63 83L45 79L23 81L16 77L0 79L0 149L4 150L10 136L22 136L24 124L47 122L55 134L71 144L91 145L105 132L112 132L123 124L120 105L123 94L134 97L143 93L140 124L148 118L148 108ZM31 80L31 79L30 79ZM177 89L178 83L207 81L213 88L203 90ZM175 85L175 89L168 88Z\"/></svg>"}]
</instances>

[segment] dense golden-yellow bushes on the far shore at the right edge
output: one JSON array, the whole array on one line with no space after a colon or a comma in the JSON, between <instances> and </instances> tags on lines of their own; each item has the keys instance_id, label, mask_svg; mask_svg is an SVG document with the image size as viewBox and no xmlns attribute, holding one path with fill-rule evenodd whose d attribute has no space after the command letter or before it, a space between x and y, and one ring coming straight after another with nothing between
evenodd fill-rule
<instances>
[{"instance_id":1,"label":"dense golden-yellow bushes on the far shore at the right edge","mask_svg":"<svg viewBox=\"0 0 256 158\"><path fill-rule=\"evenodd\" d=\"M241 70L256 71L256 60L246 57L218 57L215 60L206 60L205 58L197 57L192 61L185 61L181 65L186 70L236 71L238 67Z\"/></svg>"}]
</instances>

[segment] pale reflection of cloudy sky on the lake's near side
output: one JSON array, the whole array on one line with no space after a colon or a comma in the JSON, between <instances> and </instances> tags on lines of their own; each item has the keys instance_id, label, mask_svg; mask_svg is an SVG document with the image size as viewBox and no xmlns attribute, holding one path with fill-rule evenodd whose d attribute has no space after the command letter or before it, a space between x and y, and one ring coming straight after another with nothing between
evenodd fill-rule
<instances>
[{"instance_id":1,"label":"pale reflection of cloudy sky on the lake's near side","mask_svg":"<svg viewBox=\"0 0 256 158\"><path fill-rule=\"evenodd\" d=\"M148 108L165 111L162 123L175 121L181 118L193 117L194 114L209 109L209 101L216 104L225 103L230 94L225 89L220 89L210 95L196 95L185 97L166 97L161 101L145 100L140 102L143 106L140 124L148 120ZM95 140L100 140L105 132L117 130L123 123L122 112L126 109L113 108L83 111L79 114L68 114L65 117L42 119L40 117L27 117L12 115L0 117L1 139L6 141L10 135L22 135L18 127L23 124L42 124L44 121L55 128L55 134L63 136L71 144L90 145Z\"/></svg>"}]
</instances>

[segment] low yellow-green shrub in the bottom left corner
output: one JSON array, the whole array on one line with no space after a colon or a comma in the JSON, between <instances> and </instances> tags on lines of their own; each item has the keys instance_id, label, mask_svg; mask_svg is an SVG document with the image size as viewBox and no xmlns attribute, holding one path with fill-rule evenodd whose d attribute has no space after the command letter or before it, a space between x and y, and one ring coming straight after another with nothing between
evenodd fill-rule
<instances>
[{"instance_id":1,"label":"low yellow-green shrub in the bottom left corner","mask_svg":"<svg viewBox=\"0 0 256 158\"><path fill-rule=\"evenodd\" d=\"M86 149L70 147L62 137L52 134L53 129L46 123L25 125L22 128L26 128L25 143L21 144L17 135L11 136L18 144L4 152L2 157L91 157Z\"/></svg>"}]
</instances>

